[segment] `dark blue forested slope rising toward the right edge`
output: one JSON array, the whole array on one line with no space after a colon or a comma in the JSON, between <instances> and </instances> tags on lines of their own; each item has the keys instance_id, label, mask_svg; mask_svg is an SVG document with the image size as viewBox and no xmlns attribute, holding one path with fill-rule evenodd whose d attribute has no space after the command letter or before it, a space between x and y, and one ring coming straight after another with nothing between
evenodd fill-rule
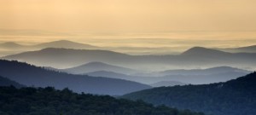
<instances>
[{"instance_id":1,"label":"dark blue forested slope rising toward the right edge","mask_svg":"<svg viewBox=\"0 0 256 115\"><path fill-rule=\"evenodd\" d=\"M225 83L146 89L122 98L213 115L255 115L256 72Z\"/></svg>"}]
</instances>

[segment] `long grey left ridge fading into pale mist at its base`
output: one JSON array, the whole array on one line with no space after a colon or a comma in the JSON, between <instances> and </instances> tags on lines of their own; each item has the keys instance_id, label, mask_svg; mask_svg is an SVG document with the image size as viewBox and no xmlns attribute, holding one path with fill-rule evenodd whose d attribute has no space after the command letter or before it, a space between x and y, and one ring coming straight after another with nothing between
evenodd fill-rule
<instances>
[{"instance_id":1,"label":"long grey left ridge fading into pale mist at its base","mask_svg":"<svg viewBox=\"0 0 256 115\"><path fill-rule=\"evenodd\" d=\"M127 56L130 57L129 55ZM114 60L126 60L126 55L107 50L48 48L18 55L9 55L3 57L3 59L26 61L37 66L67 68L93 61L113 62Z\"/></svg>"}]
</instances>

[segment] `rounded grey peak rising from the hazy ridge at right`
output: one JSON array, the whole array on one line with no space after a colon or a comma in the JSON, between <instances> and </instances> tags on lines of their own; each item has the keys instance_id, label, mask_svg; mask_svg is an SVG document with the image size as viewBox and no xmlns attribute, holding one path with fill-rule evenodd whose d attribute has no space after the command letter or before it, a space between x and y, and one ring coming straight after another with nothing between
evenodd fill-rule
<instances>
[{"instance_id":1,"label":"rounded grey peak rising from the hazy ridge at right","mask_svg":"<svg viewBox=\"0 0 256 115\"><path fill-rule=\"evenodd\" d=\"M216 54L228 54L228 53L219 51L217 49L207 49L204 47L193 47L191 49L186 50L181 55L202 55L202 54L216 55Z\"/></svg>"}]
</instances>

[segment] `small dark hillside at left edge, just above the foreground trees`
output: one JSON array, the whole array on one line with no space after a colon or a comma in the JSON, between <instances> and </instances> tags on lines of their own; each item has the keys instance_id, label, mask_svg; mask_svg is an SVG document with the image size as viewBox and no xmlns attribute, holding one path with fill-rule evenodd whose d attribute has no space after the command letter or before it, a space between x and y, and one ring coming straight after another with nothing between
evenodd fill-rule
<instances>
[{"instance_id":1,"label":"small dark hillside at left edge, just above the foreground trees","mask_svg":"<svg viewBox=\"0 0 256 115\"><path fill-rule=\"evenodd\" d=\"M25 85L17 83L13 80L10 80L9 78L4 78L0 76L0 86L14 86L15 88L22 88L25 87Z\"/></svg>"}]
</instances>

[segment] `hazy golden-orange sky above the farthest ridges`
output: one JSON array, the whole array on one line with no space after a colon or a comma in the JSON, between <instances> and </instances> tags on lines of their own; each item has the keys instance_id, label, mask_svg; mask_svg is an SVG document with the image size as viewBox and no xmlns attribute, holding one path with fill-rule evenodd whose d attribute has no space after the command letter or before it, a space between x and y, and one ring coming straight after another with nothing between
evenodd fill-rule
<instances>
[{"instance_id":1,"label":"hazy golden-orange sky above the farthest ridges","mask_svg":"<svg viewBox=\"0 0 256 115\"><path fill-rule=\"evenodd\" d=\"M0 0L0 43L256 44L255 0Z\"/></svg>"}]
</instances>

